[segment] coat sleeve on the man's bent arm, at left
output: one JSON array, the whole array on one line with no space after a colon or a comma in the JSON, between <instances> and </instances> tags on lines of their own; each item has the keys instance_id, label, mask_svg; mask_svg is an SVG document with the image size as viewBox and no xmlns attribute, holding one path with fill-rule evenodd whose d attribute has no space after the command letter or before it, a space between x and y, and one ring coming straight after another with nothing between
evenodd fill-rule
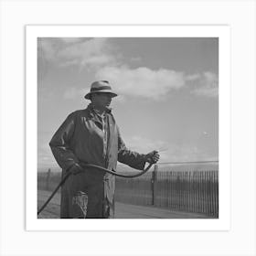
<instances>
[{"instance_id":1,"label":"coat sleeve on the man's bent arm, at left","mask_svg":"<svg viewBox=\"0 0 256 256\"><path fill-rule=\"evenodd\" d=\"M75 129L75 114L70 113L67 119L59 126L49 142L52 154L59 166L67 171L72 165L78 165L79 160L70 149L70 140Z\"/></svg>"}]
</instances>

